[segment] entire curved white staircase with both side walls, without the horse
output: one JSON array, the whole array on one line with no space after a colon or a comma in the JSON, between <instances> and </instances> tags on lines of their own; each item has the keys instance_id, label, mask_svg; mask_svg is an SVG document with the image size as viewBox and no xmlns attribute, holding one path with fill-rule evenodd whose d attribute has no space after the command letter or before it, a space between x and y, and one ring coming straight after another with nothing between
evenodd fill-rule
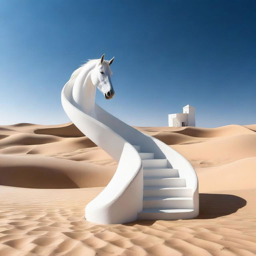
<instances>
[{"instance_id":1,"label":"entire curved white staircase with both side walls, without the horse","mask_svg":"<svg viewBox=\"0 0 256 256\"><path fill-rule=\"evenodd\" d=\"M199 212L196 172L181 154L143 134L97 104L85 113L72 97L74 81L62 90L70 120L118 162L106 188L86 206L86 219L117 224L136 219L188 219ZM92 114L91 114L92 113Z\"/></svg>"}]
</instances>

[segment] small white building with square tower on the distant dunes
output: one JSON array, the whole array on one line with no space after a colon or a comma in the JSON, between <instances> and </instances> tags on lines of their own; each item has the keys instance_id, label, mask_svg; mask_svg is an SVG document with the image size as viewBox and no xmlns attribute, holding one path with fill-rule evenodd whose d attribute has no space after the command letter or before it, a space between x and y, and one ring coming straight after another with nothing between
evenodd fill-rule
<instances>
[{"instance_id":1,"label":"small white building with square tower on the distant dunes","mask_svg":"<svg viewBox=\"0 0 256 256\"><path fill-rule=\"evenodd\" d=\"M196 126L195 108L187 105L183 107L183 113L168 115L170 127Z\"/></svg>"}]
</instances>

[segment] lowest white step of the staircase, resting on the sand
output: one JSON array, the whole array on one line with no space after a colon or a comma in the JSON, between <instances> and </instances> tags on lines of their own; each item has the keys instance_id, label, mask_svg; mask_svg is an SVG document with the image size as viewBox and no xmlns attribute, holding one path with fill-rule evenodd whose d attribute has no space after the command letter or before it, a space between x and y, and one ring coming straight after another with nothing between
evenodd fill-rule
<instances>
[{"instance_id":1,"label":"lowest white step of the staircase, resting on the sand","mask_svg":"<svg viewBox=\"0 0 256 256\"><path fill-rule=\"evenodd\" d=\"M194 209L147 208L138 213L139 220L179 220L194 217Z\"/></svg>"}]
</instances>

